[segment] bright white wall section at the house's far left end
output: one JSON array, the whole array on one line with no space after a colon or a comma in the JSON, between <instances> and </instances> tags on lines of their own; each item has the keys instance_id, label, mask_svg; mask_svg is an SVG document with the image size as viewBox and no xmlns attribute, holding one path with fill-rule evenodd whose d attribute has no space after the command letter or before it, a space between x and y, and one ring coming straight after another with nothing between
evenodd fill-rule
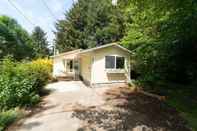
<instances>
[{"instance_id":1,"label":"bright white wall section at the house's far left end","mask_svg":"<svg viewBox=\"0 0 197 131\"><path fill-rule=\"evenodd\" d=\"M53 58L53 76L65 76L65 67L63 62L63 56Z\"/></svg>"}]
</instances>

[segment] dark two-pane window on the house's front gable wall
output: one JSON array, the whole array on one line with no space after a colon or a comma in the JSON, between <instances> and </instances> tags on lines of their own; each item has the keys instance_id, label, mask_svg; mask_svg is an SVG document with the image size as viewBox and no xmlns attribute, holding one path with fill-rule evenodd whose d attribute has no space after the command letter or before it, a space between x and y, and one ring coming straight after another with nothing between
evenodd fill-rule
<instances>
[{"instance_id":1,"label":"dark two-pane window on the house's front gable wall","mask_svg":"<svg viewBox=\"0 0 197 131\"><path fill-rule=\"evenodd\" d=\"M106 69L124 69L125 58L120 56L106 56L105 68Z\"/></svg>"}]
</instances>

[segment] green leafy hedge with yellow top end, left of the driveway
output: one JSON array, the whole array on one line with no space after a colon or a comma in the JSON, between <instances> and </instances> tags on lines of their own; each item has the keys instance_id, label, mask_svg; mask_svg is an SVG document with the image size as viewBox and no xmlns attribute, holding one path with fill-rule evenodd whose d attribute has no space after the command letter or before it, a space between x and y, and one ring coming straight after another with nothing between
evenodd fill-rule
<instances>
[{"instance_id":1,"label":"green leafy hedge with yellow top end, left of the driveway","mask_svg":"<svg viewBox=\"0 0 197 131\"><path fill-rule=\"evenodd\" d=\"M18 63L6 58L0 71L0 110L17 106L31 106L39 101L39 94L50 78L47 60ZM50 63L50 62L49 62Z\"/></svg>"}]
</instances>

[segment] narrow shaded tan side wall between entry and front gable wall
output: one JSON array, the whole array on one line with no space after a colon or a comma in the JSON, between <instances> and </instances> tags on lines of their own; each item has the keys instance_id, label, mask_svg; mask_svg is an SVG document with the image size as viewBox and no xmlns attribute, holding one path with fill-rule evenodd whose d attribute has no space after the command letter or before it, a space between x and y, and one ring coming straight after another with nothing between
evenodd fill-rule
<instances>
[{"instance_id":1,"label":"narrow shaded tan side wall between entry and front gable wall","mask_svg":"<svg viewBox=\"0 0 197 131\"><path fill-rule=\"evenodd\" d=\"M80 75L86 84L91 84L91 62L90 54L82 55L80 57Z\"/></svg>"}]
</instances>

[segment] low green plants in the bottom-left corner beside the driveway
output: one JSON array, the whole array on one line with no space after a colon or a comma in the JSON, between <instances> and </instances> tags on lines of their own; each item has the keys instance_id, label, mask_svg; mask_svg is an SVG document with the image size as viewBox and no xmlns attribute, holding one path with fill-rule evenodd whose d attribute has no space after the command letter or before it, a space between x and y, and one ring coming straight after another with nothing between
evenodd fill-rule
<instances>
[{"instance_id":1,"label":"low green plants in the bottom-left corner beside the driveway","mask_svg":"<svg viewBox=\"0 0 197 131\"><path fill-rule=\"evenodd\" d=\"M18 109L0 112L0 131L4 131L4 129L8 125L10 125L12 122L20 118L21 116L22 113Z\"/></svg>"}]
</instances>

